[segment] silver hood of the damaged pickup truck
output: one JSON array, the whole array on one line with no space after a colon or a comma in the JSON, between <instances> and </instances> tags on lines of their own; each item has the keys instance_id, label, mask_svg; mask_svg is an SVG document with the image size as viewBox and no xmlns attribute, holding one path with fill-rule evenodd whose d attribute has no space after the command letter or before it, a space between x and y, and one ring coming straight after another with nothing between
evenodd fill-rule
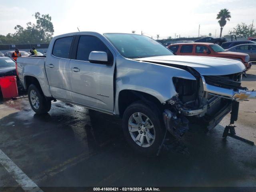
<instances>
[{"instance_id":1,"label":"silver hood of the damaged pickup truck","mask_svg":"<svg viewBox=\"0 0 256 192\"><path fill-rule=\"evenodd\" d=\"M174 67L179 65L188 66L194 68L201 75L228 75L246 70L244 64L240 61L205 56L168 55L137 58L135 60L152 62L166 66L172 66L172 64L174 64Z\"/></svg>"}]
</instances>

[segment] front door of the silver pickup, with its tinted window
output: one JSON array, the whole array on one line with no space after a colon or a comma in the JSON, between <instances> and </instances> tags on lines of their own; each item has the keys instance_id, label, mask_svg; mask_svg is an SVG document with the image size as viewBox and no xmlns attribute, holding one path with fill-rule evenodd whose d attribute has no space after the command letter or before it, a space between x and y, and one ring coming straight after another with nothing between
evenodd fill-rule
<instances>
[{"instance_id":1,"label":"front door of the silver pickup, with its tinted window","mask_svg":"<svg viewBox=\"0 0 256 192\"><path fill-rule=\"evenodd\" d=\"M114 110L114 52L100 35L77 36L70 61L72 100L91 108ZM104 51L112 65L90 63L92 51Z\"/></svg>"}]
</instances>

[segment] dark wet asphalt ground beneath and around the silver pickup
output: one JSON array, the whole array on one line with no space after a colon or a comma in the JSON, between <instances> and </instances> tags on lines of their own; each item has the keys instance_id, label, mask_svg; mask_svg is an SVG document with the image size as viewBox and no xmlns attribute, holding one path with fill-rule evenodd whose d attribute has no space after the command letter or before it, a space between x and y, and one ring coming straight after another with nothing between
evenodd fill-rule
<instances>
[{"instance_id":1,"label":"dark wet asphalt ground beneath and around the silver pickup","mask_svg":"<svg viewBox=\"0 0 256 192\"><path fill-rule=\"evenodd\" d=\"M37 115L26 96L1 102L0 111L0 149L39 187L256 187L256 146L223 140L227 118L209 134L191 125L183 137L189 154L149 158L128 146L114 116L64 102ZM246 128L255 133L255 126ZM0 186L22 191L1 165Z\"/></svg>"}]
</instances>

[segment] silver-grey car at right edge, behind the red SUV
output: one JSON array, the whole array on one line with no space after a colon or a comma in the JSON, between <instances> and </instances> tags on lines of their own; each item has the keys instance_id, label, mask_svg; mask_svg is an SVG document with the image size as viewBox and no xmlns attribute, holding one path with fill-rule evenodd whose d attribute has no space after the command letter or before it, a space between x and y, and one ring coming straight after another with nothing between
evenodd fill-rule
<instances>
[{"instance_id":1,"label":"silver-grey car at right edge, behind the red SUV","mask_svg":"<svg viewBox=\"0 0 256 192\"><path fill-rule=\"evenodd\" d=\"M250 56L251 61L256 61L256 44L241 44L229 48L226 51L246 53Z\"/></svg>"}]
</instances>

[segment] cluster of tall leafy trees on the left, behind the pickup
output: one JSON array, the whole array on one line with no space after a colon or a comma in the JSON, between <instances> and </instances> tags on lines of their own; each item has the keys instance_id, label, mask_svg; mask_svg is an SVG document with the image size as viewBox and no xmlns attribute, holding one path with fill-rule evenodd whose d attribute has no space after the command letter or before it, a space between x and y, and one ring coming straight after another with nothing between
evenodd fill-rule
<instances>
[{"instance_id":1,"label":"cluster of tall leafy trees on the left, behind the pickup","mask_svg":"<svg viewBox=\"0 0 256 192\"><path fill-rule=\"evenodd\" d=\"M14 34L0 35L0 43L2 44L18 44L18 43L43 43L50 42L52 39L54 28L51 22L52 18L49 14L41 15L36 12L32 15L36 18L36 24L27 23L26 28L16 25Z\"/></svg>"}]
</instances>

